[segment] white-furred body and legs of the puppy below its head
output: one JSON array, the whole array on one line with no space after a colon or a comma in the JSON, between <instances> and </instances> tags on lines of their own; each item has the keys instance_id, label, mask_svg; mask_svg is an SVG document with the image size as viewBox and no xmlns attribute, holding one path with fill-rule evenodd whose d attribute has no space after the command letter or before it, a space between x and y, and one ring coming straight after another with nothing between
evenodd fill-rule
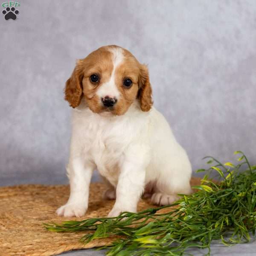
<instances>
[{"instance_id":1,"label":"white-furred body and legs of the puppy below its head","mask_svg":"<svg viewBox=\"0 0 256 256\"><path fill-rule=\"evenodd\" d=\"M109 216L136 212L145 184L154 183L152 201L170 204L189 194L191 165L166 119L154 107L148 112L135 101L121 116L90 111L84 99L73 110L73 131L67 173L70 198L58 215L81 216L88 206L93 169L116 188ZM113 194L113 193L112 193Z\"/></svg>"}]
</instances>

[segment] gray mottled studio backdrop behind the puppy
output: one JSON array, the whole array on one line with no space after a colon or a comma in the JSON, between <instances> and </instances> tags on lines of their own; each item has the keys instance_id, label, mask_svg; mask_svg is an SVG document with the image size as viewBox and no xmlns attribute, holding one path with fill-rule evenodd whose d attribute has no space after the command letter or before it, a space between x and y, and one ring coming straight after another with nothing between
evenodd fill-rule
<instances>
[{"instance_id":1,"label":"gray mottled studio backdrop behind the puppy","mask_svg":"<svg viewBox=\"0 0 256 256\"><path fill-rule=\"evenodd\" d=\"M148 64L154 105L186 148L256 163L256 1L22 1L0 17L0 185L64 183L75 60L117 44ZM95 178L95 177L94 177Z\"/></svg>"}]
</instances>

